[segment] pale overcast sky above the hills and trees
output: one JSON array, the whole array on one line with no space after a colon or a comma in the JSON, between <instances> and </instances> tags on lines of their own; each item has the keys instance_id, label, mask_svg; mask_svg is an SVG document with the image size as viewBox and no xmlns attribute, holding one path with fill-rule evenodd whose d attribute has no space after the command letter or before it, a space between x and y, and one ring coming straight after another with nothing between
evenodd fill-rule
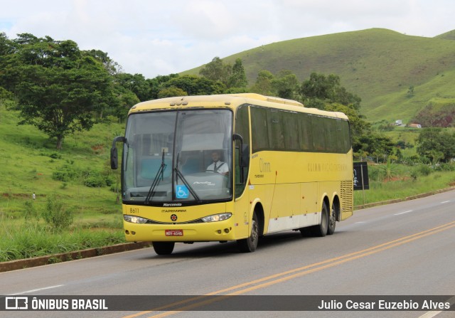
<instances>
[{"instance_id":1,"label":"pale overcast sky above the hills and trees","mask_svg":"<svg viewBox=\"0 0 455 318\"><path fill-rule=\"evenodd\" d=\"M453 0L0 0L0 32L73 40L126 73L179 73L277 41L389 28L455 29Z\"/></svg>"}]
</instances>

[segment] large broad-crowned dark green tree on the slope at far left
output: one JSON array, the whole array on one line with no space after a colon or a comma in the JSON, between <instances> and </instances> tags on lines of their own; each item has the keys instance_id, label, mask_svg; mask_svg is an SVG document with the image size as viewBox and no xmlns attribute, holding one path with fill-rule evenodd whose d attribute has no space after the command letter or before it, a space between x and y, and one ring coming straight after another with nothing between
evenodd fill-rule
<instances>
[{"instance_id":1,"label":"large broad-crowned dark green tree on the slope at far left","mask_svg":"<svg viewBox=\"0 0 455 318\"><path fill-rule=\"evenodd\" d=\"M112 77L102 61L80 51L74 41L19 34L2 59L0 85L16 95L22 117L62 148L66 135L88 130L93 112L112 105Z\"/></svg>"}]
</instances>

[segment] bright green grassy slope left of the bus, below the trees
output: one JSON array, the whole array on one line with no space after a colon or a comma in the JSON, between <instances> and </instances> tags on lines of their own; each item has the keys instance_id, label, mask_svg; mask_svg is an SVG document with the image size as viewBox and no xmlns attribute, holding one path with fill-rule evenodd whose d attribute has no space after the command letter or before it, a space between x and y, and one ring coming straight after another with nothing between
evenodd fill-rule
<instances>
[{"instance_id":1,"label":"bright green grassy slope left of the bus, below the trees","mask_svg":"<svg viewBox=\"0 0 455 318\"><path fill-rule=\"evenodd\" d=\"M55 194L73 209L76 223L89 223L94 217L98 225L119 223L121 208L109 187L89 188L81 180L63 184L53 180L52 174L63 164L82 171L110 172L109 149L113 137L123 133L121 125L97 124L90 132L75 133L65 139L64 149L59 152L45 134L35 127L18 126L17 122L18 113L0 105L1 217L20 218L23 202L34 191L38 209L44 206L47 196Z\"/></svg>"}]
</instances>

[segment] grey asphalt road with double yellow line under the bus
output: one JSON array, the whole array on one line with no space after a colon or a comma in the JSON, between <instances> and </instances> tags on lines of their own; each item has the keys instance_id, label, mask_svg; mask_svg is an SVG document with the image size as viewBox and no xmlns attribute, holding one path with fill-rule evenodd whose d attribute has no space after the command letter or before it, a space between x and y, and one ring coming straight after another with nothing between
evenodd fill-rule
<instances>
[{"instance_id":1,"label":"grey asphalt road with double yellow line under the bus","mask_svg":"<svg viewBox=\"0 0 455 318\"><path fill-rule=\"evenodd\" d=\"M274 302L286 302L283 295L328 295L324 299L345 307L346 300L359 300L358 295L375 295L375 302L382 295L455 295L455 191L355 211L325 238L302 238L293 231L269 235L259 241L255 253L239 253L235 243L177 244L166 257L146 248L1 272L0 295L119 295L125 302L134 301L129 295L204 296L173 307L192 305L193 311L186 312L9 311L0 312L0 317L455 317L455 311L439 309L235 311L255 300L273 308ZM205 295L240 297L218 301ZM290 307L306 300L288 298L295 301ZM177 300L169 296L170 302ZM223 311L197 311L218 309L223 302Z\"/></svg>"}]
</instances>

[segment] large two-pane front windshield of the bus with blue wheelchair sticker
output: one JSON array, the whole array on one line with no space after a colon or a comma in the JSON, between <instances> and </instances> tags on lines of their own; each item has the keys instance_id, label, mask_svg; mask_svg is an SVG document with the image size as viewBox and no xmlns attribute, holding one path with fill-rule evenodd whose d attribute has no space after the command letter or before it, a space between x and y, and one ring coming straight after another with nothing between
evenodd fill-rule
<instances>
[{"instance_id":1,"label":"large two-pane front windshield of the bus with blue wheelchair sticker","mask_svg":"<svg viewBox=\"0 0 455 318\"><path fill-rule=\"evenodd\" d=\"M231 198L230 110L132 114L125 137L123 201L175 206Z\"/></svg>"}]
</instances>

